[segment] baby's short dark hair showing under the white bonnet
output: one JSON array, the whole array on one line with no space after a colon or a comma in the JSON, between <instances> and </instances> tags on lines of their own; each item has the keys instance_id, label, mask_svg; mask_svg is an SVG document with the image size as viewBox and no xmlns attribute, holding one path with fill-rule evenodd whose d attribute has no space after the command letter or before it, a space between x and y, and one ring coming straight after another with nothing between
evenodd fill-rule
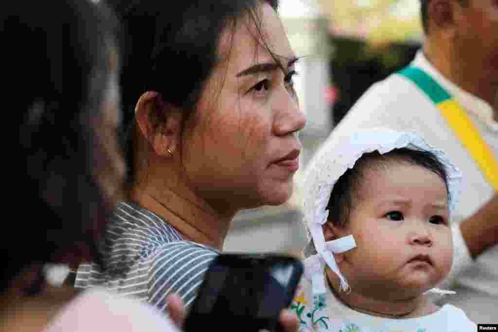
<instances>
[{"instance_id":1,"label":"baby's short dark hair showing under the white bonnet","mask_svg":"<svg viewBox=\"0 0 498 332\"><path fill-rule=\"evenodd\" d=\"M355 166L348 169L334 185L326 208L329 210L329 221L338 226L346 225L351 211L358 204L359 191L365 183L366 171L393 163L418 165L436 173L444 180L446 192L449 193L446 168L434 153L410 148L394 149L384 154L378 151L369 152L363 154Z\"/></svg>"}]
</instances>

